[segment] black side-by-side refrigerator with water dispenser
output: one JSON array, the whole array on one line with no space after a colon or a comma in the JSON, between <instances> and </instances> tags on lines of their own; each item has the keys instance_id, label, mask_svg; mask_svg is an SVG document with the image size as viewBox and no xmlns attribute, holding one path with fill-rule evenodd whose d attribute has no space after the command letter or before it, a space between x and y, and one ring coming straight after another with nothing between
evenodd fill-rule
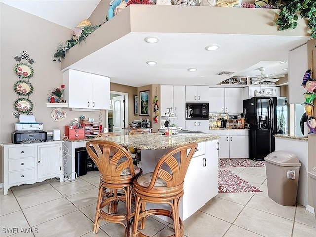
<instances>
[{"instance_id":1,"label":"black side-by-side refrigerator with water dispenser","mask_svg":"<svg viewBox=\"0 0 316 237\"><path fill-rule=\"evenodd\" d=\"M287 134L286 97L253 97L243 101L249 124L249 158L264 160L275 150L275 134Z\"/></svg>"}]
</instances>

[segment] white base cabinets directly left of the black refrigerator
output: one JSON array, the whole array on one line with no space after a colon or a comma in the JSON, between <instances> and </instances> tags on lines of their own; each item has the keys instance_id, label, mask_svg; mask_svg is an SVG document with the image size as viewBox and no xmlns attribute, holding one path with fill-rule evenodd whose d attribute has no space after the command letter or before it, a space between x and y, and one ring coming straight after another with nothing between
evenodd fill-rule
<instances>
[{"instance_id":1,"label":"white base cabinets directly left of the black refrigerator","mask_svg":"<svg viewBox=\"0 0 316 237\"><path fill-rule=\"evenodd\" d=\"M247 130L210 130L209 134L220 136L219 158L248 158L249 143Z\"/></svg>"}]
</instances>

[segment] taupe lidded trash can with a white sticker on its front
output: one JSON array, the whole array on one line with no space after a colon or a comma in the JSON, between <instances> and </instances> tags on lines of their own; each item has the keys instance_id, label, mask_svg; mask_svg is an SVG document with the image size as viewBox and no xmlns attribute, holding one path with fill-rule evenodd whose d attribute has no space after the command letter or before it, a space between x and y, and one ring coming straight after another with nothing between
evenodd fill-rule
<instances>
[{"instance_id":1,"label":"taupe lidded trash can with a white sticker on its front","mask_svg":"<svg viewBox=\"0 0 316 237\"><path fill-rule=\"evenodd\" d=\"M264 158L268 196L283 206L296 204L300 162L298 157L287 151L275 151Z\"/></svg>"}]
</instances>

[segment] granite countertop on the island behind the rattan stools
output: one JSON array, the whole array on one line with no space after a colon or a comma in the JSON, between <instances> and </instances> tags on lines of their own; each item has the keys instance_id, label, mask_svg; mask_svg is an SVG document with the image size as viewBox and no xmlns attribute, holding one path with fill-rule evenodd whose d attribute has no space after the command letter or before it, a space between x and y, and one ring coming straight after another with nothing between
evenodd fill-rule
<instances>
[{"instance_id":1,"label":"granite countertop on the island behind the rattan stools","mask_svg":"<svg viewBox=\"0 0 316 237\"><path fill-rule=\"evenodd\" d=\"M209 134L176 134L165 136L161 133L146 133L137 135L113 136L108 138L95 138L94 140L113 141L123 147L134 147L137 149L158 150L173 148L179 145L194 142L205 142L219 139L219 136Z\"/></svg>"}]
</instances>

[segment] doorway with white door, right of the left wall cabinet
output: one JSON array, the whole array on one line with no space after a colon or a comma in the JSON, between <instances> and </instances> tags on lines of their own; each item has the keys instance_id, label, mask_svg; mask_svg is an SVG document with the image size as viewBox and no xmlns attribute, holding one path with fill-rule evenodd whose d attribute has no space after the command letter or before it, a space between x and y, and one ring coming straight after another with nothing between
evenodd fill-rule
<instances>
[{"instance_id":1,"label":"doorway with white door, right of the left wall cabinet","mask_svg":"<svg viewBox=\"0 0 316 237\"><path fill-rule=\"evenodd\" d=\"M128 121L128 93L110 91L110 109L107 110L108 132L124 135Z\"/></svg>"}]
</instances>

